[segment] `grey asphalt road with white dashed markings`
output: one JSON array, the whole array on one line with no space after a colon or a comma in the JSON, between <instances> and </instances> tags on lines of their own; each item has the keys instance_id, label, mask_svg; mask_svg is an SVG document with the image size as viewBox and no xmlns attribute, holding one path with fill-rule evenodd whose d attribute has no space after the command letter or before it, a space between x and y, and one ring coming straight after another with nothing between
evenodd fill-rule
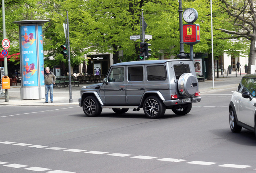
<instances>
[{"instance_id":1,"label":"grey asphalt road with white dashed markings","mask_svg":"<svg viewBox=\"0 0 256 173\"><path fill-rule=\"evenodd\" d=\"M256 139L231 133L232 91L202 95L192 111L147 119L81 107L0 105L0 173L249 173Z\"/></svg>"}]
</instances>

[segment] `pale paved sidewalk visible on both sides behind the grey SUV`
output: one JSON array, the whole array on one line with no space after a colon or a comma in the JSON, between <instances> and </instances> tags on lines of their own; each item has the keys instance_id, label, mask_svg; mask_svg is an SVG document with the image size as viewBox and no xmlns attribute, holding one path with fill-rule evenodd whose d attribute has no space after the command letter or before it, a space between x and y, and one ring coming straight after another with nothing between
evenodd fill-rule
<instances>
[{"instance_id":1,"label":"pale paved sidewalk visible on both sides behind the grey SUV","mask_svg":"<svg viewBox=\"0 0 256 173\"><path fill-rule=\"evenodd\" d=\"M237 73L235 76L235 72L232 74L228 74L228 76L221 76L219 73L219 78L215 75L214 80L214 88L213 88L213 80L204 80L204 82L198 82L199 84L199 92L201 95L213 93L216 91L221 91L225 89L233 89L236 90L242 76L245 73L242 73L241 76ZM78 106L78 99L80 98L80 89L83 86L89 84L79 84L79 87L72 86L72 103L69 103L69 87L54 87L54 103L45 103L45 99L35 99L35 100L21 100L21 84L19 83L18 86L11 86L8 90L9 101L5 101L5 97L0 97L0 105L21 105L21 106L54 106L54 105L76 105ZM50 101L50 94L49 94L49 101Z\"/></svg>"}]
</instances>

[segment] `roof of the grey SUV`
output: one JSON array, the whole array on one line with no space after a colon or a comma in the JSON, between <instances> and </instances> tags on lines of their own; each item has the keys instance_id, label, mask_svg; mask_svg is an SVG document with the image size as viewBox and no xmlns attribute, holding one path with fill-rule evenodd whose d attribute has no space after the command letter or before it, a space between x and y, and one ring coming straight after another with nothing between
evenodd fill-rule
<instances>
[{"instance_id":1,"label":"roof of the grey SUV","mask_svg":"<svg viewBox=\"0 0 256 173\"><path fill-rule=\"evenodd\" d=\"M111 66L125 66L125 65L141 65L141 64L164 64L169 61L192 61L190 59L168 59L168 60L140 60L140 61L129 61L120 62Z\"/></svg>"}]
</instances>

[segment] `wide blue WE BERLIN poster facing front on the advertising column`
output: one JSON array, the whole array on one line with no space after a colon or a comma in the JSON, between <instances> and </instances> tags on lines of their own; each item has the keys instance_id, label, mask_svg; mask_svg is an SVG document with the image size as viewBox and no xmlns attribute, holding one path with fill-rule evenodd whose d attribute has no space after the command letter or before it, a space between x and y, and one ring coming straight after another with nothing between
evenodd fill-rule
<instances>
[{"instance_id":1,"label":"wide blue WE BERLIN poster facing front on the advertising column","mask_svg":"<svg viewBox=\"0 0 256 173\"><path fill-rule=\"evenodd\" d=\"M38 86L35 25L21 26L22 86Z\"/></svg>"}]
</instances>

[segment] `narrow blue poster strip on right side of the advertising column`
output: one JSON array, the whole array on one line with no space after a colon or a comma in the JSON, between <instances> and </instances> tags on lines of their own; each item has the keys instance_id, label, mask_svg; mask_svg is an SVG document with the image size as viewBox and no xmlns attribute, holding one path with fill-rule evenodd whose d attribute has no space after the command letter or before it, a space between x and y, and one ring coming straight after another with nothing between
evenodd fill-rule
<instances>
[{"instance_id":1,"label":"narrow blue poster strip on right side of the advertising column","mask_svg":"<svg viewBox=\"0 0 256 173\"><path fill-rule=\"evenodd\" d=\"M44 65L43 65L43 27L41 25L38 26L38 37L39 37L39 68L40 68L40 85L44 85Z\"/></svg>"}]
</instances>

